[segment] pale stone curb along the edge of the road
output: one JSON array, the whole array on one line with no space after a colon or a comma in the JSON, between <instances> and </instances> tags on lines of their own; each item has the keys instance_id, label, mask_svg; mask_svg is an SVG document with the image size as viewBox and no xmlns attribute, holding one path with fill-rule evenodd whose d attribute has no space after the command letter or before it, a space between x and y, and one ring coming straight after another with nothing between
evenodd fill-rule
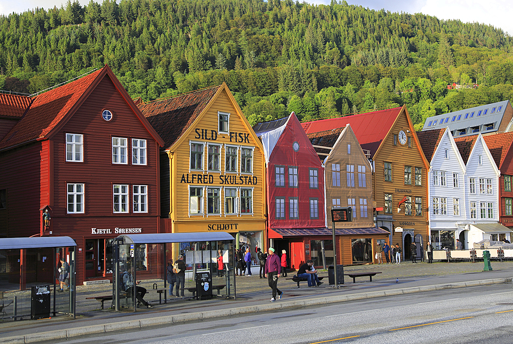
<instances>
[{"instance_id":1,"label":"pale stone curb along the edge of the road","mask_svg":"<svg viewBox=\"0 0 513 344\"><path fill-rule=\"evenodd\" d=\"M371 291L367 293L358 293L358 294L347 294L347 295L334 295L334 296L325 296L318 298L311 298L305 300L293 300L293 301L285 301L285 302L277 302L277 303L264 303L263 305L257 306L244 306L237 308L229 308L222 310L213 310L213 311L205 311L205 312L194 312L194 313L185 313L185 314L177 314L177 315L165 315L154 318L147 318L141 320L126 320L120 322L112 322L105 325L92 325L92 326L83 326L76 327L67 330L57 330L57 331L48 331L48 332L39 332L39 333L31 333L27 335L19 335L2 338L0 343L6 344L25 344L25 343L35 343L45 340L56 340L56 339L66 339L77 336L83 336L87 334L94 333L107 333L111 331L119 331L119 330L127 330L127 329L142 329L150 326L160 326L160 325L169 325L172 323L181 323L187 321L198 321L198 320L206 320L213 318L222 318L229 317L240 314L252 314L252 313L261 313L261 312L270 312L277 310L289 310L289 309L298 309L305 308L310 306L319 306L319 305L328 305L330 303L344 302L344 301L353 301L353 300L362 300L376 297L385 297L385 296L395 296L395 295L403 295L403 294L412 294L412 293L421 293L428 291L436 291L436 290L444 290L444 289L456 289L456 288L466 288L466 287L477 287L477 286L485 286L492 284L503 284L507 282L511 282L513 278L491 278L491 279L482 279L476 281L468 281L468 282L456 282L450 284L443 285L433 285L433 286L422 286L422 287L409 287L402 289L391 289L385 291Z\"/></svg>"}]
</instances>

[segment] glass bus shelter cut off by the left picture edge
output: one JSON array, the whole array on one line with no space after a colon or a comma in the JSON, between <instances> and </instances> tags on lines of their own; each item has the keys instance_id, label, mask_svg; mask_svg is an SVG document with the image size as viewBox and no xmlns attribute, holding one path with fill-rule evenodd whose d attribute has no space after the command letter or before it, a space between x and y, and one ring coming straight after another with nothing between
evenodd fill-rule
<instances>
[{"instance_id":1,"label":"glass bus shelter cut off by the left picture edge","mask_svg":"<svg viewBox=\"0 0 513 344\"><path fill-rule=\"evenodd\" d=\"M0 238L2 320L75 318L75 246L69 236Z\"/></svg>"}]
</instances>

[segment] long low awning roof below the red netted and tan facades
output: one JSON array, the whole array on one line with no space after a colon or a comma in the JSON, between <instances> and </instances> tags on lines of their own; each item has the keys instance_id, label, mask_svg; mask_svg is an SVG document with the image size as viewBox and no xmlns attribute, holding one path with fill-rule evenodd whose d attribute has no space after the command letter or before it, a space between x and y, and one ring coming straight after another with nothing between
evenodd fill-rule
<instances>
[{"instance_id":1,"label":"long low awning roof below the red netted and tan facades","mask_svg":"<svg viewBox=\"0 0 513 344\"><path fill-rule=\"evenodd\" d=\"M269 228L268 236L271 239L281 239L286 236L323 236L332 235L329 228ZM390 234L388 231L378 227L371 228L337 228L335 235L367 235L367 234Z\"/></svg>"}]
</instances>

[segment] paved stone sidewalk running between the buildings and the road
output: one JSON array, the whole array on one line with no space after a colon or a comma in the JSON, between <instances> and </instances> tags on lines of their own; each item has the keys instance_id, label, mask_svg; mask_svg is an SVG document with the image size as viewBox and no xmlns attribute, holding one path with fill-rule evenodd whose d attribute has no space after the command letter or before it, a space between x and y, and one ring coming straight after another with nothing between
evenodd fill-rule
<instances>
[{"instance_id":1,"label":"paved stone sidewalk running between the buildings and the road","mask_svg":"<svg viewBox=\"0 0 513 344\"><path fill-rule=\"evenodd\" d=\"M215 317L233 316L255 312L280 311L290 308L326 305L333 302L365 299L417 293L424 291L443 290L449 288L466 288L484 284L511 282L513 262L492 261L494 271L483 272L483 262L458 262L435 264L411 264L404 262L400 265L365 265L344 267L344 272L380 271L369 282L368 277L357 278L353 284L352 278L345 278L345 284L340 289L325 284L319 288L306 288L306 282L301 282L301 288L292 280L280 278L279 288L284 291L284 297L278 302L269 302L270 288L267 279L260 279L258 271L252 277L236 277L237 299L213 298L211 300L168 300L166 305L159 305L156 293L151 293L154 281L143 281L148 284L150 294L145 299L154 305L153 309L141 309L136 313L114 312L100 310L100 302L86 299L88 295L109 293L112 285L79 286L77 287L77 318L57 316L52 319L5 321L0 325L0 342L28 343L42 340L59 340L77 335L116 330L138 329L147 326L157 326L166 323L198 321ZM289 273L291 277L294 273ZM326 273L321 275L326 276ZM399 282L396 283L396 279ZM163 287L163 281L157 282ZM441 291L442 292L442 291ZM106 307L110 306L108 302Z\"/></svg>"}]
</instances>

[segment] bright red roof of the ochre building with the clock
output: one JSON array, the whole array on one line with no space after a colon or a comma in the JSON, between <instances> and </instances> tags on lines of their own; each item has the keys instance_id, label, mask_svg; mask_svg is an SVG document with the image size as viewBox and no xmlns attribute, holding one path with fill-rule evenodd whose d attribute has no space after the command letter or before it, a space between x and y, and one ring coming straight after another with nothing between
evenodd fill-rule
<instances>
[{"instance_id":1,"label":"bright red roof of the ochre building with the clock","mask_svg":"<svg viewBox=\"0 0 513 344\"><path fill-rule=\"evenodd\" d=\"M302 123L302 126L305 132L310 134L331 130L333 128L343 128L347 124L350 124L351 129L358 138L360 146L370 151L373 157L402 109L403 108L394 108L359 115L320 119L313 122Z\"/></svg>"}]
</instances>

